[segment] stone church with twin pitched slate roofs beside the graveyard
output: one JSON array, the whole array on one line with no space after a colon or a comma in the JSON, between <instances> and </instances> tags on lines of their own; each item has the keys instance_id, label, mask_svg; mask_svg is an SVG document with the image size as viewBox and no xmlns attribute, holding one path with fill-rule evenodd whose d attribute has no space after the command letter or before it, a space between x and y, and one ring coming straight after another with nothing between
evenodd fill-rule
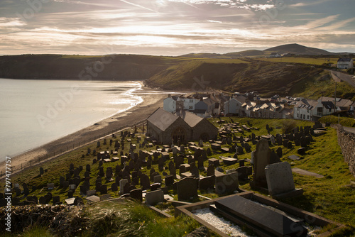
<instances>
[{"instance_id":1,"label":"stone church with twin pitched slate roofs beside the graveyard","mask_svg":"<svg viewBox=\"0 0 355 237\"><path fill-rule=\"evenodd\" d=\"M159 108L147 118L147 135L165 145L214 139L217 133L218 129L206 118L188 111L172 114Z\"/></svg>"}]
</instances>

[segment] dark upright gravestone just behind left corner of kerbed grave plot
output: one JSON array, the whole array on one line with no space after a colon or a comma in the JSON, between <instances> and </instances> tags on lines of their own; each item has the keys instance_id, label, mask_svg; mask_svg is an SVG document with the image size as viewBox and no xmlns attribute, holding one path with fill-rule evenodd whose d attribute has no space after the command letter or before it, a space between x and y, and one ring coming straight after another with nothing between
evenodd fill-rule
<instances>
[{"instance_id":1,"label":"dark upright gravestone just behind left corner of kerbed grave plot","mask_svg":"<svg viewBox=\"0 0 355 237\"><path fill-rule=\"evenodd\" d=\"M197 198L197 185L198 179L194 177L185 177L180 180L177 184L179 201Z\"/></svg>"}]
</instances>

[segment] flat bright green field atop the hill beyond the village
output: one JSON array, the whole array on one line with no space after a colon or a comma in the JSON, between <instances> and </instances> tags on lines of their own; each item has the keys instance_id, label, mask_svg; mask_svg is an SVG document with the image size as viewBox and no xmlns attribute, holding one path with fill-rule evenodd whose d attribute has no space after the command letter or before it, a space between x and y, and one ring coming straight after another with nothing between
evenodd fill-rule
<instances>
[{"instance_id":1,"label":"flat bright green field atop the hill beyond the village","mask_svg":"<svg viewBox=\"0 0 355 237\"><path fill-rule=\"evenodd\" d=\"M337 64L339 57L276 57L276 58L258 58L258 60L266 62L290 62L290 63L304 63L309 65L323 65L324 63Z\"/></svg>"}]
</instances>

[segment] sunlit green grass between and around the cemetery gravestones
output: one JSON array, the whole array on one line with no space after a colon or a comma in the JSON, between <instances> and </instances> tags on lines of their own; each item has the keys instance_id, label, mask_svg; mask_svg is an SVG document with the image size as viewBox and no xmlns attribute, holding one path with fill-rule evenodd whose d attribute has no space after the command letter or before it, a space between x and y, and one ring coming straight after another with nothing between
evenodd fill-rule
<instances>
[{"instance_id":1,"label":"sunlit green grass between and around the cemetery gravestones","mask_svg":"<svg viewBox=\"0 0 355 237\"><path fill-rule=\"evenodd\" d=\"M244 137L251 136L251 133L255 133L256 136L266 135L267 124L268 126L273 128L271 134L273 135L277 133L281 134L283 123L285 121L282 119L251 119L251 118L222 118L222 119L224 119L228 123L230 122L239 122L241 124L249 123L251 127L259 128L259 130L252 130L251 132L245 131L243 135ZM217 123L218 118L212 118L210 119L210 121L214 123L215 126L219 127L219 124ZM295 123L297 124L297 126L313 125L313 123L307 121L295 121ZM242 134L237 134L237 136L241 136L241 135ZM117 136L117 138L114 138L114 140L120 140L120 137ZM324 175L324 178L315 178L315 177L309 177L304 175L297 175L294 173L293 177L294 177L296 188L304 189L305 193L302 195L302 197L283 199L282 202L291 204L293 206L296 206L297 208L304 209L305 211L310 211L317 215L323 216L324 218L331 219L333 221L337 221L349 226L348 228L346 228L345 231L341 233L335 233L334 236L353 236L355 233L354 232L355 185L354 183L351 182L355 182L355 177L351 176L349 172L349 167L344 162L342 151L340 150L339 145L337 144L337 133L333 128L327 128L327 132L324 135L315 136L314 140L315 141L312 142L311 145L309 145L309 147L307 148L306 155L302 155L302 160L293 161L293 160L288 160L287 158L289 155L297 155L297 148L299 147L293 147L291 149L282 147L283 158L281 158L281 160L290 162L292 167L299 167L301 169L308 170L310 172L316 172L320 175ZM132 142L135 143L136 138L133 139ZM103 140L101 141L101 143L103 143ZM126 145L126 148L124 149L124 153L128 153L127 147L128 146ZM222 147L229 147L229 145L222 145ZM251 150L255 150L255 147L256 145L251 145ZM271 150L276 150L278 147L279 147L278 145L271 145ZM32 192L30 195L35 194L38 197L44 196L47 193L47 191L43 189L43 187L46 187L47 183L54 182L56 188L52 191L52 194L53 196L60 195L60 199L62 201L67 197L67 189L61 189L60 187L58 187L59 176L60 175L65 176L65 173L67 172L67 170L69 170L70 163L73 163L75 167L78 167L79 165L85 167L86 164L92 165L92 160L96 158L96 156L85 155L87 153L87 148L91 148L91 150L96 149L97 152L102 150L113 149L112 146L110 147L109 145L104 145L104 146L102 145L102 147L97 148L96 143L93 143L92 145L87 145L83 148L73 151L72 153L69 153L67 155L62 155L60 158L57 158L51 162L42 165L44 169L48 169L48 172L45 172L45 174L42 176L39 175L38 167L35 167L32 170L28 170L18 175L13 175L12 177L13 182L20 183L20 184L26 182L28 183L29 187L32 187L33 185L36 186L37 189L34 192ZM209 148L209 143L204 143L204 148L205 149ZM147 148L146 150L152 150L152 149L155 148ZM191 150L187 150L187 155L189 153L192 154L193 152ZM82 158L82 155L84 155L84 158ZM234 153L224 153L224 154L214 153L209 158L219 158L220 155L232 157ZM239 159L251 158L251 154L246 153L244 155L239 155L238 158ZM185 158L185 163L186 162L187 162L187 158ZM117 164L110 163L110 162L104 163L103 165L104 170L106 170L106 168L109 166L115 166L115 165L118 165L118 163ZM204 161L204 166L206 167L208 166L208 160ZM152 165L152 167L155 168L155 171L159 172L157 164ZM235 165L224 165L224 163L221 162L220 167L222 167L223 170L230 170L239 167L239 163ZM142 172L148 174L149 170L144 168ZM91 177L97 177L97 173L98 173L98 164L94 164L92 165ZM159 173L160 175L163 175L163 172L159 172ZM206 173L200 171L200 175L206 176ZM90 189L94 189L95 188L94 182L91 183L92 185ZM104 180L102 183L104 184ZM107 183L108 187L111 187L111 183L112 182ZM241 189L246 189L246 190L251 189L249 182L240 181L239 184L241 186ZM74 196L80 197L79 191L80 190L77 189L75 191ZM116 193L109 192L109 193L111 194L111 197L119 197L118 192ZM175 199L177 199L177 194L175 194L173 190L170 190L169 194L174 196ZM202 194L203 196L210 197L210 198L219 197L217 194L207 193L204 191L202 192L199 191L199 194ZM193 202L199 202L199 201L202 201L202 198L193 200ZM84 202L86 203L85 200ZM104 229L105 230L110 229L112 231L110 233L103 232L102 236L107 236L109 234L111 234L110 236L129 236L128 232L124 232L124 231L120 232L122 231L121 228L128 228L129 230L134 231L137 230L137 228L139 228L139 226L141 226L142 223L146 223L146 224L143 224L144 228L141 227L142 231L138 233L138 236L140 234L144 236L143 234L150 233L149 231L154 231L151 230L151 228L153 227L149 227L149 226L155 226L155 228L158 228L158 232L154 232L154 233L161 233L160 236L170 236L170 233L172 233L171 236L183 236L185 234L185 231L189 233L189 231L192 231L193 228L198 226L191 219L173 218L168 220L167 219L155 220L156 216L154 214L151 214L151 212L148 209L140 205L136 207L133 205L131 209L126 206L112 208L109 206L105 206L105 204L97 204L92 206L92 208L88 207L88 209L85 211L84 216L86 216L85 218L92 219L92 220L97 219L96 214L99 213L99 211L102 211L104 209L120 209L120 210L122 209L122 211L127 211L126 216L128 216L127 217L128 220L126 221L122 220L120 219L121 216L119 215L117 216L114 213L111 213L112 216L108 216L108 218L109 220L111 220L110 223L112 226L105 226ZM160 206L160 209L168 210L169 214L173 214L173 206ZM118 223L124 223L124 224L122 224L122 226L119 227L117 226ZM95 226L95 224L93 223L91 226L89 226L88 228L89 231L86 232L88 234L87 236L90 236L89 234L91 233L90 230L91 231L99 230L99 228L103 228L103 226L100 225ZM45 233L48 233L46 232L46 229L40 229L39 231L45 231ZM154 236L154 235L152 234L147 236Z\"/></svg>"}]
</instances>

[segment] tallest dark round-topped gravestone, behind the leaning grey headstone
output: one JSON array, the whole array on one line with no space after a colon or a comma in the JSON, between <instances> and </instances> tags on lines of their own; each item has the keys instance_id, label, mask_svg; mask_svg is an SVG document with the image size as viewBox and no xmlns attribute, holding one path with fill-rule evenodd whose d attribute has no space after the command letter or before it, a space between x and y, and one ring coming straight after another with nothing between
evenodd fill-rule
<instances>
[{"instance_id":1,"label":"tallest dark round-topped gravestone, behind the leaning grey headstone","mask_svg":"<svg viewBox=\"0 0 355 237\"><path fill-rule=\"evenodd\" d=\"M256 144L256 150L253 152L253 181L251 187L267 187L265 167L276 162L280 158L276 157L268 147L268 141L261 139Z\"/></svg>"}]
</instances>

